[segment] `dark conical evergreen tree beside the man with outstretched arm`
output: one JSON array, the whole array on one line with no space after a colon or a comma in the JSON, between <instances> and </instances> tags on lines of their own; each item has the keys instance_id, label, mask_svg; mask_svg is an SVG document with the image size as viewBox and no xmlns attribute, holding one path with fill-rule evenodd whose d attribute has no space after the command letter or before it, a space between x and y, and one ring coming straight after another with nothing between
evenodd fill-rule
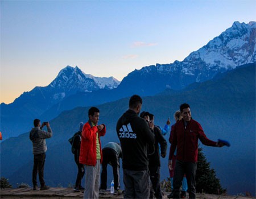
<instances>
[{"instance_id":1,"label":"dark conical evergreen tree beside the man with outstretched arm","mask_svg":"<svg viewBox=\"0 0 256 199\"><path fill-rule=\"evenodd\" d=\"M222 194L226 190L221 187L220 179L217 179L214 169L210 169L210 163L203 154L203 148L199 147L197 171L196 171L196 190L210 194Z\"/></svg>"}]
</instances>

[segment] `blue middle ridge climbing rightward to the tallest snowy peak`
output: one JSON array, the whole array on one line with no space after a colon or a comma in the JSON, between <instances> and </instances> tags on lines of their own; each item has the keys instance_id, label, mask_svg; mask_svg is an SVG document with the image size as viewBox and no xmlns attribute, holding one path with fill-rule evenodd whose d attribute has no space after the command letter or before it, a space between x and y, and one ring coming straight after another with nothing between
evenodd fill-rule
<instances>
[{"instance_id":1,"label":"blue middle ridge climbing rightward to the tallest snowy peak","mask_svg":"<svg viewBox=\"0 0 256 199\"><path fill-rule=\"evenodd\" d=\"M218 72L228 71L238 65L254 63L256 61L255 40L256 22L249 24L235 22L232 27L199 51L192 52L184 61L175 61L174 64L156 64L135 70L123 78L116 89L76 93L52 106L42 115L42 118L53 118L64 110L111 102L134 93L150 96L167 88L180 90L193 82L209 80ZM200 57L196 59L196 55Z\"/></svg>"}]
</instances>

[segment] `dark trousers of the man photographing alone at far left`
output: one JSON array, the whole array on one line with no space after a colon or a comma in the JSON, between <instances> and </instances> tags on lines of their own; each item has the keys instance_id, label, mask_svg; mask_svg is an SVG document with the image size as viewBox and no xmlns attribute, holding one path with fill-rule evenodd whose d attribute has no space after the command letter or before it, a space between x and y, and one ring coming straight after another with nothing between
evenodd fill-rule
<instances>
[{"instance_id":1,"label":"dark trousers of the man photographing alone at far left","mask_svg":"<svg viewBox=\"0 0 256 199\"><path fill-rule=\"evenodd\" d=\"M46 161L46 153L34 155L34 167L32 171L32 183L33 186L37 186L37 176L39 175L39 181L41 187L46 185L44 183L44 162Z\"/></svg>"}]
</instances>

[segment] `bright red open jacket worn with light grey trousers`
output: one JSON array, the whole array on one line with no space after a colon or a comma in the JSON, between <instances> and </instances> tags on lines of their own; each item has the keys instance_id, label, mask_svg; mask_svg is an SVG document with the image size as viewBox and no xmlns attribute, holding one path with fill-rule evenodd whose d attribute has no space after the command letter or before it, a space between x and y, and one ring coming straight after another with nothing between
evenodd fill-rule
<instances>
[{"instance_id":1,"label":"bright red open jacket worn with light grey trousers","mask_svg":"<svg viewBox=\"0 0 256 199\"><path fill-rule=\"evenodd\" d=\"M90 121L86 122L84 127L82 127L82 137L81 137L81 147L79 162L86 165L96 165L96 132L98 132L97 126L93 126ZM100 143L101 151L101 163L102 163L102 150L101 150L101 140L100 136L106 134L106 127L100 132L98 132L98 142Z\"/></svg>"}]
</instances>

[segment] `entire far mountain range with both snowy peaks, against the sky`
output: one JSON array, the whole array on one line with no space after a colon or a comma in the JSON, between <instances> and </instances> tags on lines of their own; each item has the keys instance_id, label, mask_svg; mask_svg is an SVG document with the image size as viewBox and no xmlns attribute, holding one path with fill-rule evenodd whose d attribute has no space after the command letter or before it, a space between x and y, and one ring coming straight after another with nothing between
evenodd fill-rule
<instances>
[{"instance_id":1,"label":"entire far mountain range with both snowy peaks, against the sky","mask_svg":"<svg viewBox=\"0 0 256 199\"><path fill-rule=\"evenodd\" d=\"M193 82L210 80L218 72L255 63L255 40L256 22L234 22L183 61L143 67L129 73L119 85L113 77L105 83L105 79L91 77L77 67L66 67L50 85L37 86L9 105L2 103L1 131L4 138L17 136L31 126L34 118L49 120L77 106L100 105L134 93L151 96L167 88L180 90Z\"/></svg>"}]
</instances>

